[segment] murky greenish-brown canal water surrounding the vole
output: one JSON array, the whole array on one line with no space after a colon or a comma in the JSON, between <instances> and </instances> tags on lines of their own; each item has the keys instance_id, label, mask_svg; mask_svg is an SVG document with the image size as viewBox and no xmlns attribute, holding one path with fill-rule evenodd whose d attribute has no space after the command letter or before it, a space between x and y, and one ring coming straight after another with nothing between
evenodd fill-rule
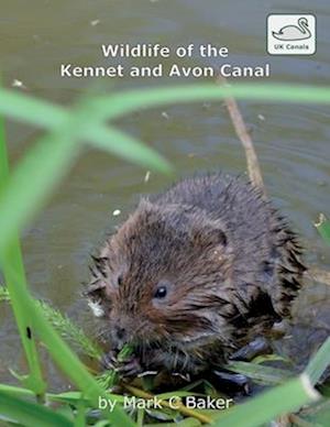
<instances>
[{"instance_id":1,"label":"murky greenish-brown canal water surrounding the vole","mask_svg":"<svg viewBox=\"0 0 330 427\"><path fill-rule=\"evenodd\" d=\"M266 55L265 20L272 12L317 14L317 54ZM91 81L61 78L61 63L107 65L109 61L101 56L101 43L170 46L212 43L228 46L234 64L271 63L268 81L327 85L329 19L330 3L323 0L312 3L306 0L2 0L0 67L8 86L16 79L24 86L18 90L67 105L85 94ZM133 65L133 62L123 63ZM182 59L180 64L216 66L218 62L190 58ZM155 59L150 64L155 64ZM166 78L112 81L117 90L161 84L170 81ZM255 141L270 195L300 232L308 249L308 261L329 269L329 250L312 226L319 212L330 215L329 107L240 105ZM233 174L245 171L241 145L226 109L219 103L141 111L119 124L168 157L179 175L217 168ZM34 129L8 123L11 161L15 162L37 135ZM169 184L158 174L151 174L145 183L145 173L103 153L88 152L24 233L24 260L34 294L52 302L89 330L92 330L90 315L79 293L80 283L88 277L90 251L102 240L106 230L124 218L141 194L161 191ZM121 216L113 217L114 209L120 209ZM329 304L329 286L307 284L298 302L298 313L306 324L330 327ZM307 341L314 337L302 326L297 328L295 339L305 351L311 347ZM0 380L9 380L8 365L22 370L23 357L10 310L4 306L0 311Z\"/></svg>"}]
</instances>

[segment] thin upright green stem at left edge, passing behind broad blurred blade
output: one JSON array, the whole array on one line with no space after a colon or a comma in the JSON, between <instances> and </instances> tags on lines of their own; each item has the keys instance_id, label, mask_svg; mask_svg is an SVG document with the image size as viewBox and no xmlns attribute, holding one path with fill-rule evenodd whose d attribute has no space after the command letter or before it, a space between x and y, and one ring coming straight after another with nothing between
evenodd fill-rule
<instances>
[{"instance_id":1,"label":"thin upright green stem at left edge, passing behind broad blurred blade","mask_svg":"<svg viewBox=\"0 0 330 427\"><path fill-rule=\"evenodd\" d=\"M9 179L9 165L7 156L7 145L4 135L4 123L0 116L0 193L7 185ZM0 228L1 229L1 228ZM2 230L1 230L2 231ZM14 288L12 285L11 270L15 270L19 275L19 287ZM12 302L13 314L18 324L21 341L25 351L29 374L22 376L23 383L29 388L33 390L35 394L42 398L46 384L43 381L41 364L34 339L26 337L26 328L29 327L29 317L24 310L24 302L19 296L26 288L26 278L23 265L23 259L20 248L20 241L16 236L16 230L13 228L11 239L9 239L7 247L3 247L2 271L9 296Z\"/></svg>"}]
</instances>

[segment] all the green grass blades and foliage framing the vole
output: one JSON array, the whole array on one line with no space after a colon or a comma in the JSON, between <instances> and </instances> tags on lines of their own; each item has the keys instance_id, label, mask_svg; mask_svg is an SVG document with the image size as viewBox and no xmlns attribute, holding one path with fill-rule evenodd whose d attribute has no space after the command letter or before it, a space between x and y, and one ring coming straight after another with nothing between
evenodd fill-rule
<instances>
[{"instance_id":1,"label":"all the green grass blades and foliage framing the vole","mask_svg":"<svg viewBox=\"0 0 330 427\"><path fill-rule=\"evenodd\" d=\"M213 85L199 85L148 91L138 90L99 99L85 99L68 111L10 90L0 90L0 113L48 130L48 133L35 143L19 162L15 169L9 174L4 129L0 124L0 263L8 287L7 297L4 289L1 289L0 295L2 299L11 302L29 365L28 374L18 375L22 386L0 384L2 418L26 426L36 426L41 423L43 426L74 424L82 426L86 421L99 423L101 426L107 424L106 420L114 426L130 426L135 423L143 425L146 412L138 410L133 417L128 416L122 408L123 397L105 390L69 349L63 337L70 340L74 338L80 348L88 349L87 352L91 358L99 358L99 349L94 349L94 343L88 338L85 337L85 339L84 332L72 326L67 318L61 316L56 310L52 311L53 309L44 303L32 298L25 280L18 233L31 223L54 188L75 163L84 146L81 140L87 141L91 146L120 155L140 165L165 173L170 172L167 161L113 125L107 127L107 120L117 119L141 108L175 101L223 99L229 95L245 99L330 103L329 88L290 87L288 90L285 86L238 85L234 88L219 88ZM62 327L65 332L58 333ZM77 392L62 394L46 392L36 337L45 344L67 377L77 386ZM280 414L297 410L305 404L322 399L314 385L329 363L330 340L328 339L310 361L305 373L284 383L282 373L280 381L278 379L279 385L242 405L221 413L200 409L189 412L183 404L179 404L177 410L164 407L162 410L155 410L153 415L156 419L180 420L182 425L186 426L200 423L221 424L224 427L261 425ZM240 369L235 368L237 371ZM262 382L263 372L266 370L263 366L260 370L254 366L254 375L256 371L260 375L258 381ZM276 377L276 370L272 373ZM135 393L141 397L150 396L146 392L132 386L127 388L130 393ZM187 395L187 391L184 390L173 393L182 397ZM189 394L191 393L194 392L189 391ZM209 394L207 386L205 394ZM118 402L113 412L96 410L100 397ZM161 398L166 401L168 395L161 395ZM327 407L329 401L323 399L326 408L323 407L321 414L322 421L330 419L329 407ZM55 402L57 403L56 408L50 406L50 403ZM312 406L310 407L312 412Z\"/></svg>"}]
</instances>

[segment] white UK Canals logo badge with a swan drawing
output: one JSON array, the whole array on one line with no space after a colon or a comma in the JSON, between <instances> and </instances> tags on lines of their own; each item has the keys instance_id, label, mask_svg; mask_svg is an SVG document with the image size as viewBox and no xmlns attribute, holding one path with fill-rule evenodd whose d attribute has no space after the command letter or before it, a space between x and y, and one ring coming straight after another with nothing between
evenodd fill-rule
<instances>
[{"instance_id":1,"label":"white UK Canals logo badge with a swan drawing","mask_svg":"<svg viewBox=\"0 0 330 427\"><path fill-rule=\"evenodd\" d=\"M267 17L270 55L312 55L316 53L314 14L270 14Z\"/></svg>"}]
</instances>

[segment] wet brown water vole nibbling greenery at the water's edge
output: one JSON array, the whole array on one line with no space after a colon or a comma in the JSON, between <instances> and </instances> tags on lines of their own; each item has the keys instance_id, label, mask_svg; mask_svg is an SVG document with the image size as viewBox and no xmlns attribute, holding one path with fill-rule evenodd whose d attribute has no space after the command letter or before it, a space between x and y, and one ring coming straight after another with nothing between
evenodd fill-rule
<instances>
[{"instance_id":1,"label":"wet brown water vole nibbling greenery at the water's edge","mask_svg":"<svg viewBox=\"0 0 330 427\"><path fill-rule=\"evenodd\" d=\"M185 179L144 198L95 259L88 295L109 350L136 371L198 373L263 318L289 317L305 266L296 234L249 183Z\"/></svg>"}]
</instances>

